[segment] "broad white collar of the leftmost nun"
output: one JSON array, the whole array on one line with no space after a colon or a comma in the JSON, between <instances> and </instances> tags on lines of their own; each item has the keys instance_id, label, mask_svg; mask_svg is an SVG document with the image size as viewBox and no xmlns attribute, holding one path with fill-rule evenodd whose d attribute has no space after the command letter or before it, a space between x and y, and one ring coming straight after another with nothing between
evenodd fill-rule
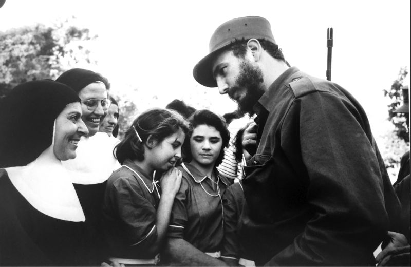
<instances>
[{"instance_id":1,"label":"broad white collar of the leftmost nun","mask_svg":"<svg viewBox=\"0 0 411 267\"><path fill-rule=\"evenodd\" d=\"M26 166L5 168L14 187L39 212L66 221L85 221L76 190L53 145Z\"/></svg>"}]
</instances>

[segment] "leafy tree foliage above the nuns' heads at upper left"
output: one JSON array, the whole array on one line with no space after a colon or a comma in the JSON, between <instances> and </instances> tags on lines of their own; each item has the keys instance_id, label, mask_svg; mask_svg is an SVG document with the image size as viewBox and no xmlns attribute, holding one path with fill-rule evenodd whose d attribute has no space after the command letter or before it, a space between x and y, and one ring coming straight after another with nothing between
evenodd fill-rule
<instances>
[{"instance_id":1,"label":"leafy tree foliage above the nuns' heads at upper left","mask_svg":"<svg viewBox=\"0 0 411 267\"><path fill-rule=\"evenodd\" d=\"M73 26L74 20L0 33L0 98L20 83L55 79L79 62L96 64L87 45L98 36Z\"/></svg>"}]
</instances>

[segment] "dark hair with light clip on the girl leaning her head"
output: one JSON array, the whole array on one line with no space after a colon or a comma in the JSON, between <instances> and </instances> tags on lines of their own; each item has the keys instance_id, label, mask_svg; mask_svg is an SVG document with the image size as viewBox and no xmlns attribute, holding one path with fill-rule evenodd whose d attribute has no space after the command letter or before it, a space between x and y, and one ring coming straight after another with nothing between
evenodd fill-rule
<instances>
[{"instance_id":1,"label":"dark hair with light clip on the girl leaning her head","mask_svg":"<svg viewBox=\"0 0 411 267\"><path fill-rule=\"evenodd\" d=\"M167 136L177 132L179 128L183 130L185 136L188 136L189 123L174 110L154 108L144 111L125 132L123 141L115 147L115 156L120 164L123 164L126 159L142 161L144 144L150 135L158 144ZM136 131L142 142L137 137Z\"/></svg>"}]
</instances>

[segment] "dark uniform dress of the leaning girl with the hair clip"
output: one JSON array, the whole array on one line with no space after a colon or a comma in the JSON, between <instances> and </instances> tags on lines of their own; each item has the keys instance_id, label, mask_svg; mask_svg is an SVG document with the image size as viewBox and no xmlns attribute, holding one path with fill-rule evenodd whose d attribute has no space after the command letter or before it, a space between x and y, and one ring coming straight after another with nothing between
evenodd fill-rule
<instances>
[{"instance_id":1,"label":"dark uniform dress of the leaning girl with the hair clip","mask_svg":"<svg viewBox=\"0 0 411 267\"><path fill-rule=\"evenodd\" d=\"M133 161L125 160L110 176L103 203L103 231L111 260L123 264L158 262L157 258L153 261L156 254L148 250L157 239L159 202L156 181Z\"/></svg>"}]
</instances>

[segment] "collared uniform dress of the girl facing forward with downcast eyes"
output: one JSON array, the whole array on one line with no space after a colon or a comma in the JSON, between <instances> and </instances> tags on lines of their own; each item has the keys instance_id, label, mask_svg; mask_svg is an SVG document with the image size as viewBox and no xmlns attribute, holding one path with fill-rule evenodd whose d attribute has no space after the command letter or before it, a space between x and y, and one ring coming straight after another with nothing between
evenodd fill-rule
<instances>
[{"instance_id":1,"label":"collared uniform dress of the girl facing forward with downcast eyes","mask_svg":"<svg viewBox=\"0 0 411 267\"><path fill-rule=\"evenodd\" d=\"M178 169L181 186L174 199L169 238L181 238L204 253L220 251L223 237L222 200L229 180L214 168L217 182L204 176L189 163ZM213 254L217 257L217 254Z\"/></svg>"}]
</instances>

